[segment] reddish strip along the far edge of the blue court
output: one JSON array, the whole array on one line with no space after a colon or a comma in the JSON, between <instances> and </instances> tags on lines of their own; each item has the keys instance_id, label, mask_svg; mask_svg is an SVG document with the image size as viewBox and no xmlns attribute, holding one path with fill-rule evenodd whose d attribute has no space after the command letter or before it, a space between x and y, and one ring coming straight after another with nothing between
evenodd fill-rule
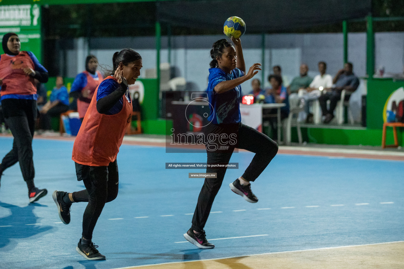
<instances>
[{"instance_id":1,"label":"reddish strip along the far edge of the blue court","mask_svg":"<svg viewBox=\"0 0 404 269\"><path fill-rule=\"evenodd\" d=\"M0 135L0 137L13 137L11 135ZM62 137L62 136L49 136L42 137L36 136L34 139L43 139L43 140L64 140L64 141L74 141L75 137ZM149 142L149 141L130 141L124 140L122 142L124 145L137 145L137 146L155 146L155 147L165 147L165 142ZM195 149L204 149L204 147L198 147ZM321 148L316 148L316 150L290 150L290 149L282 149L278 150L279 154L288 154L288 155L304 155L304 156L323 156L323 157L339 157L339 158L361 158L361 159L372 159L372 160L389 160L389 161L404 161L404 156L398 155L375 155L372 153L351 153L351 152L322 152ZM343 150L343 149L339 149ZM246 150L240 150L246 151ZM388 152L385 152L388 154Z\"/></svg>"}]
</instances>

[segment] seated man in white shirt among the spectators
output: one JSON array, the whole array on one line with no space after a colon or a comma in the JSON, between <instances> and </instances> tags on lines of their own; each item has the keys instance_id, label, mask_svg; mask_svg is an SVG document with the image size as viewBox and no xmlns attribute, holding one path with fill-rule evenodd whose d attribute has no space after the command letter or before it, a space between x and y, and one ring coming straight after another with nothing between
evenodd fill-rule
<instances>
[{"instance_id":1,"label":"seated man in white shirt among the spectators","mask_svg":"<svg viewBox=\"0 0 404 269\"><path fill-rule=\"evenodd\" d=\"M320 75L316 75L311 81L309 88L305 91L302 99L305 108L306 123L313 122L313 114L310 113L310 104L312 101L317 100L321 95L321 91L332 87L332 77L326 74L327 64L324 62L318 63L318 71ZM321 87L321 88L320 88Z\"/></svg>"}]
</instances>

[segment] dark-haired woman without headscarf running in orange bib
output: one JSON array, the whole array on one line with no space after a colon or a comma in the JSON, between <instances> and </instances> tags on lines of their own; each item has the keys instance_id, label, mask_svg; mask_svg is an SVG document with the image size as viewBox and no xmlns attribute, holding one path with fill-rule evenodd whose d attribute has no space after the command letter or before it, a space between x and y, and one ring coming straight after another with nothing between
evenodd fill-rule
<instances>
[{"instance_id":1,"label":"dark-haired woman without headscarf running in orange bib","mask_svg":"<svg viewBox=\"0 0 404 269\"><path fill-rule=\"evenodd\" d=\"M82 180L86 189L73 193L55 190L52 195L65 224L70 222L73 202L88 202L82 238L76 247L87 260L105 260L91 240L104 204L118 195L116 155L132 117L128 85L135 83L142 68L141 56L131 49L115 52L112 62L112 74L95 90L74 141L72 160L77 180Z\"/></svg>"}]
</instances>

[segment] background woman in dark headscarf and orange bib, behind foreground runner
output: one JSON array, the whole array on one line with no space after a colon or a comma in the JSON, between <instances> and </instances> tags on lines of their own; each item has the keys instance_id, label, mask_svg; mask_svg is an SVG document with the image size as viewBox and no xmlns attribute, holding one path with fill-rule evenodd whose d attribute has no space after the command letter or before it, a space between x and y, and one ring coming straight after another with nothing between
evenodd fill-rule
<instances>
[{"instance_id":1,"label":"background woman in dark headscarf and orange bib, behind foreground runner","mask_svg":"<svg viewBox=\"0 0 404 269\"><path fill-rule=\"evenodd\" d=\"M100 71L97 71L97 67L97 57L88 55L86 58L86 71L76 76L70 89L70 96L77 98L77 111L81 121L83 121L88 106L90 106L95 89L103 80L103 76Z\"/></svg>"}]
</instances>

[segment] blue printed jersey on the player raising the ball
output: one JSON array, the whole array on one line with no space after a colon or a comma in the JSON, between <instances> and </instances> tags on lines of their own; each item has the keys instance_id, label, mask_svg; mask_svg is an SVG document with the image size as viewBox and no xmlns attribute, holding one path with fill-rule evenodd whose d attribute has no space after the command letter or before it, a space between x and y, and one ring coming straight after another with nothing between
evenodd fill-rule
<instances>
[{"instance_id":1,"label":"blue printed jersey on the player raising the ball","mask_svg":"<svg viewBox=\"0 0 404 269\"><path fill-rule=\"evenodd\" d=\"M215 87L222 81L236 79L242 77L244 72L236 68L228 74L220 68L209 69L208 100L211 104L210 115L208 121L213 124L220 123L239 123L241 121L240 100L241 100L241 85L235 88L218 94L215 92Z\"/></svg>"}]
</instances>

